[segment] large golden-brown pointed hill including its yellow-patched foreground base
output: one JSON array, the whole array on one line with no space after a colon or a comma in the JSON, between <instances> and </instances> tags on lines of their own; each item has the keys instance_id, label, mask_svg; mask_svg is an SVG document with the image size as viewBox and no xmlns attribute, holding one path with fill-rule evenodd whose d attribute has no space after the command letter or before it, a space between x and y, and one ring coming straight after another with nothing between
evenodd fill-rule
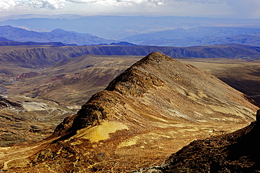
<instances>
[{"instance_id":1,"label":"large golden-brown pointed hill including its yellow-patched foreground base","mask_svg":"<svg viewBox=\"0 0 260 173\"><path fill-rule=\"evenodd\" d=\"M13 172L130 172L159 165L195 139L254 121L257 106L206 71L151 53L65 118ZM38 144L39 146L39 144Z\"/></svg>"}]
</instances>

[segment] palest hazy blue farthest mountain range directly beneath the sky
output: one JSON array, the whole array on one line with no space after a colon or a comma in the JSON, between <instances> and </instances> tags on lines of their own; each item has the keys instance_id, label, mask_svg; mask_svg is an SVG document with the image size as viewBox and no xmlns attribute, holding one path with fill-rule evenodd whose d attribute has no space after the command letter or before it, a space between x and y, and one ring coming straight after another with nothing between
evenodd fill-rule
<instances>
[{"instance_id":1,"label":"palest hazy blue farthest mountain range directly beneath the sky","mask_svg":"<svg viewBox=\"0 0 260 173\"><path fill-rule=\"evenodd\" d=\"M10 20L8 20L10 19ZM12 19L12 20L11 20ZM259 19L223 19L191 17L148 16L79 16L79 15L20 15L2 19L0 25L23 27L32 31L64 29L90 33L106 39L124 39L136 34L148 34L177 28L246 27L259 28ZM203 34L203 33L202 33Z\"/></svg>"}]
</instances>

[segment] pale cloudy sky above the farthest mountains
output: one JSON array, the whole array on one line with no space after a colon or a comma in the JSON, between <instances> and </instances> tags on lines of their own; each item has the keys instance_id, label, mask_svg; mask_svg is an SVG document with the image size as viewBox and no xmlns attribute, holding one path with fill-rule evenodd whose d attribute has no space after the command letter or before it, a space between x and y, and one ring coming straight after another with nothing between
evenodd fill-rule
<instances>
[{"instance_id":1,"label":"pale cloudy sky above the farthest mountains","mask_svg":"<svg viewBox=\"0 0 260 173\"><path fill-rule=\"evenodd\" d=\"M260 0L1 0L0 17L22 14L260 18Z\"/></svg>"}]
</instances>

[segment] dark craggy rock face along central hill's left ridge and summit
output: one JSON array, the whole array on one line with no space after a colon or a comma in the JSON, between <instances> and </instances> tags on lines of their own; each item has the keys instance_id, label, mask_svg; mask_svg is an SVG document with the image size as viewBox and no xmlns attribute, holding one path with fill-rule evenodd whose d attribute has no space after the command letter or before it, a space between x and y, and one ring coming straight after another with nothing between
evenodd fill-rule
<instances>
[{"instance_id":1,"label":"dark craggy rock face along central hill's left ridge and summit","mask_svg":"<svg viewBox=\"0 0 260 173\"><path fill-rule=\"evenodd\" d=\"M165 67L167 64L171 65ZM122 97L143 97L150 90L156 90L156 88L166 85L161 79L162 76L168 74L169 68L181 65L184 64L162 53L150 53L117 76L104 91L93 95L74 117L73 123L65 120L54 134L63 134L66 130L73 133L84 127L98 125L102 120L110 119L111 115L120 114L111 108L115 107L117 102L127 102L119 101L125 99ZM71 127L68 129L63 126Z\"/></svg>"}]
</instances>

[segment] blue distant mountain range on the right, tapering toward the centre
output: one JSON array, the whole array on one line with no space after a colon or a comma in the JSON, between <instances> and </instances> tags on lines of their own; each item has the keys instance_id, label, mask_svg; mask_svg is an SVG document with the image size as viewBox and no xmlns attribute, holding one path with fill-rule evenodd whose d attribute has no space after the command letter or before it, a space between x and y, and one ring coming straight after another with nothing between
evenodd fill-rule
<instances>
[{"instance_id":1,"label":"blue distant mountain range on the right, tapering toward the centre","mask_svg":"<svg viewBox=\"0 0 260 173\"><path fill-rule=\"evenodd\" d=\"M260 46L260 29L236 27L180 28L137 34L122 40L150 46L199 46L226 43Z\"/></svg>"}]
</instances>

